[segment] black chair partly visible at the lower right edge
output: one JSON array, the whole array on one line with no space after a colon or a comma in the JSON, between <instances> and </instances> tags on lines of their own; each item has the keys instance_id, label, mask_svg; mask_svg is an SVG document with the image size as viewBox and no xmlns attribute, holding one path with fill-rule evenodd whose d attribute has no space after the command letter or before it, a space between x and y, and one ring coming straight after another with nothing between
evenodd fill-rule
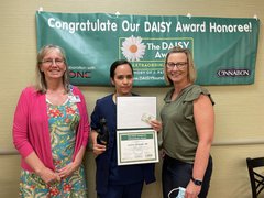
<instances>
[{"instance_id":1,"label":"black chair partly visible at the lower right edge","mask_svg":"<svg viewBox=\"0 0 264 198\"><path fill-rule=\"evenodd\" d=\"M251 180L252 198L257 198L261 191L264 189L264 175L257 173L255 168L264 167L264 157L246 158L248 169Z\"/></svg>"}]
</instances>

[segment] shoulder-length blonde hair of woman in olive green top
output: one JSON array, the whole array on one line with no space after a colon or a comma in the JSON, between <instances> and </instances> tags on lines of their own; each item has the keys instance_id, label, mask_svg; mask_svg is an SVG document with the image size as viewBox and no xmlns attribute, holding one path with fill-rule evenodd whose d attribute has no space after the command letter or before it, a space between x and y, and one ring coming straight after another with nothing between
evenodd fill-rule
<instances>
[{"instance_id":1,"label":"shoulder-length blonde hair of woman in olive green top","mask_svg":"<svg viewBox=\"0 0 264 198\"><path fill-rule=\"evenodd\" d=\"M194 84L195 80L196 80L196 69L195 69L195 63L194 63L194 59L193 59L193 55L191 55L191 53L190 53L190 51L188 48L182 48L179 46L175 46L167 53L166 58L165 58L165 63L164 63L164 78L165 78L167 85L173 85L173 81L167 76L166 64L167 64L168 56L170 54L174 54L174 53L184 53L184 54L186 54L186 56L187 56L187 64L188 64L188 81Z\"/></svg>"}]
</instances>

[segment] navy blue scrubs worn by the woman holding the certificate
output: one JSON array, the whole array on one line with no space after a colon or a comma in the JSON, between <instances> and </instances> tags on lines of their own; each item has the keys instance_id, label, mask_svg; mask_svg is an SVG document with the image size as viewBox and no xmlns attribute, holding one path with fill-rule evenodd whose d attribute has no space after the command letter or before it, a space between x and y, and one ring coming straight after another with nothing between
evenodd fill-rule
<instances>
[{"instance_id":1,"label":"navy blue scrubs worn by the woman holding the certificate","mask_svg":"<svg viewBox=\"0 0 264 198\"><path fill-rule=\"evenodd\" d=\"M155 182L155 164L118 166L117 105L109 95L97 100L91 113L91 129L100 128L100 119L107 120L110 141L107 151L96 157L96 190L100 198L140 198L143 183Z\"/></svg>"}]
</instances>

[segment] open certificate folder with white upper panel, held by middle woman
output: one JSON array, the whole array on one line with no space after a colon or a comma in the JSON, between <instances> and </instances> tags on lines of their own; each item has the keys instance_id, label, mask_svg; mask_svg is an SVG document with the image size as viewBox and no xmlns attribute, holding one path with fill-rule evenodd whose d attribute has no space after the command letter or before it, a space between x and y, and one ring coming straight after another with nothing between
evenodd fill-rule
<instances>
[{"instance_id":1,"label":"open certificate folder with white upper panel, held by middle woman","mask_svg":"<svg viewBox=\"0 0 264 198\"><path fill-rule=\"evenodd\" d=\"M157 132L150 120L156 118L156 97L117 98L118 165L158 162Z\"/></svg>"}]
</instances>

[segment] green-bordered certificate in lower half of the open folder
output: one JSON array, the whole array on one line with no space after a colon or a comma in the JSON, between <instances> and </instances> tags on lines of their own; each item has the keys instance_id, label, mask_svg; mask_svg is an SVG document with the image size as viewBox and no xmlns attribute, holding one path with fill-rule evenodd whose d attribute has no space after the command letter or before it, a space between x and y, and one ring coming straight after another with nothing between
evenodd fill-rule
<instances>
[{"instance_id":1,"label":"green-bordered certificate in lower half of the open folder","mask_svg":"<svg viewBox=\"0 0 264 198\"><path fill-rule=\"evenodd\" d=\"M158 162L158 145L156 131L118 131L118 165L156 162Z\"/></svg>"}]
</instances>

